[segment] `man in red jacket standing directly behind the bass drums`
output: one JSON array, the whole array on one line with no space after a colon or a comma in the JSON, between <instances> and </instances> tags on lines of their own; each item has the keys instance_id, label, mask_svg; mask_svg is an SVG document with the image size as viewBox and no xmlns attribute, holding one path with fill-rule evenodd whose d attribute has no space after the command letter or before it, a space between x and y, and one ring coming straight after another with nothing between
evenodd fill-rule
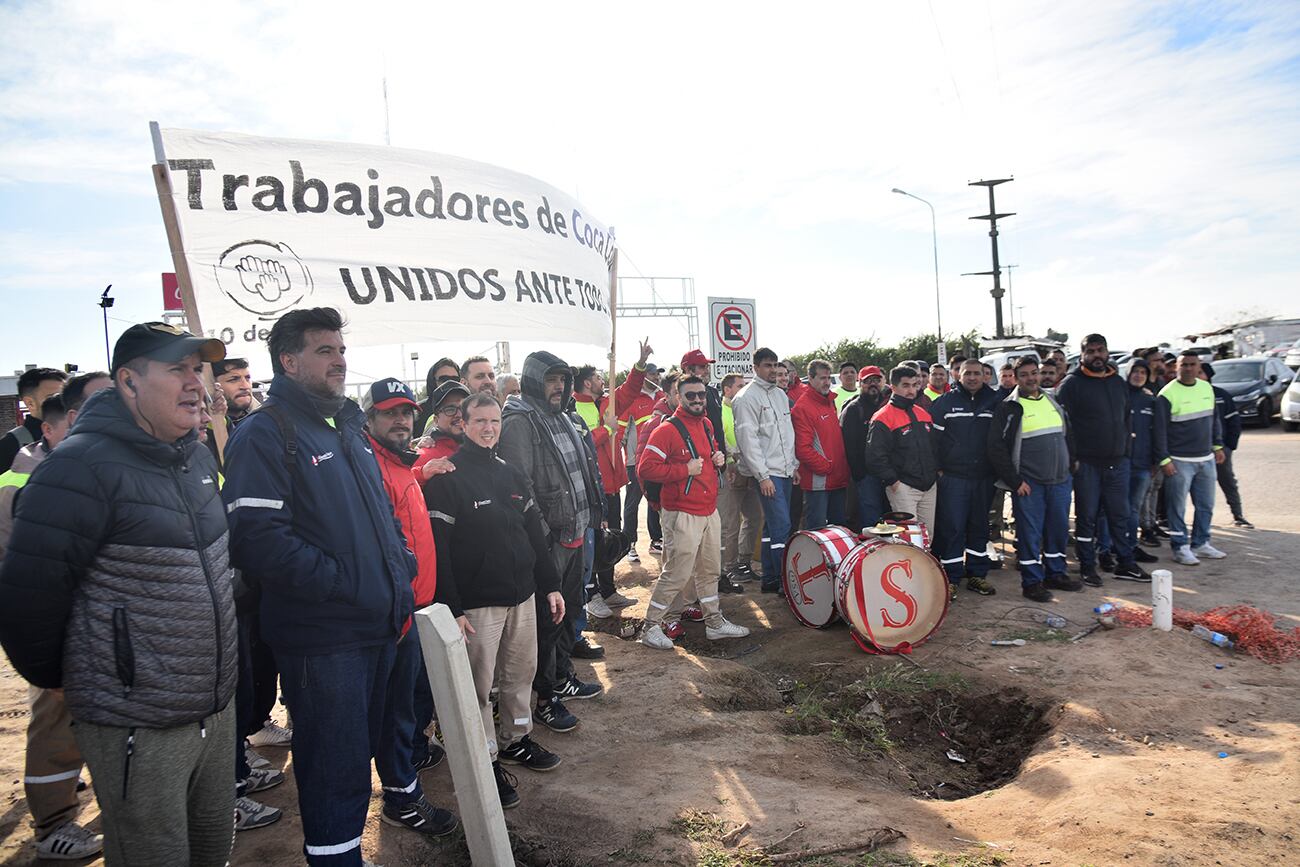
<instances>
[{"instance_id":1,"label":"man in red jacket standing directly behind the bass drums","mask_svg":"<svg viewBox=\"0 0 1300 867\"><path fill-rule=\"evenodd\" d=\"M809 361L809 383L790 409L794 456L800 459L803 489L803 526L816 529L844 524L844 491L849 486L849 459L831 391L831 363Z\"/></svg>"}]
</instances>

